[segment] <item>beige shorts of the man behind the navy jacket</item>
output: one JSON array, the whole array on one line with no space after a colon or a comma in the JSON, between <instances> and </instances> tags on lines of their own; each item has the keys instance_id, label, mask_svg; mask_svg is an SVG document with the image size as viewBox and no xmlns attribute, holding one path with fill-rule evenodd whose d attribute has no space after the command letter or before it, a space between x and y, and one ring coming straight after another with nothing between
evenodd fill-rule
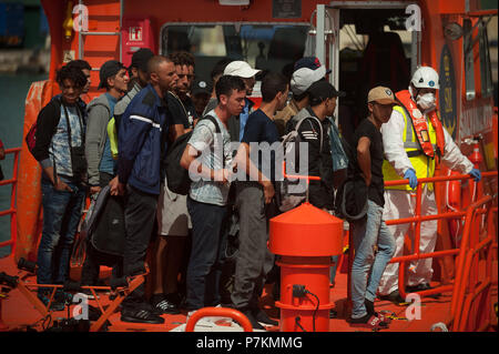
<instances>
[{"instance_id":1,"label":"beige shorts of the man behind the navy jacket","mask_svg":"<svg viewBox=\"0 0 499 354\"><path fill-rule=\"evenodd\" d=\"M192 229L187 211L187 195L169 190L166 180L161 184L157 201L157 230L160 235L186 236Z\"/></svg>"}]
</instances>

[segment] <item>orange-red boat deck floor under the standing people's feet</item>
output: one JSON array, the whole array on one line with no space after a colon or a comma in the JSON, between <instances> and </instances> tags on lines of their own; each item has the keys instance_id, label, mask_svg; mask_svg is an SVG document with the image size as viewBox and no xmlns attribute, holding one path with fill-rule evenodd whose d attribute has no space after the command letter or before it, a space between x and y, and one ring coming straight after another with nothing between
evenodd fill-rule
<instances>
[{"instance_id":1,"label":"orange-red boat deck floor under the standing people's feet","mask_svg":"<svg viewBox=\"0 0 499 354\"><path fill-rule=\"evenodd\" d=\"M497 279L497 262L493 266L495 279ZM9 275L18 275L19 271L14 265L12 257L0 259L0 271ZM26 282L35 283L35 276L31 275L26 279ZM431 285L439 285L432 283ZM274 304L274 300L269 295L272 285L266 285L264 294L261 299L263 309L267 312L269 317L279 320L278 309ZM381 332L430 332L431 326L436 323L446 323L449 317L451 293L444 293L438 300L424 297L420 303L420 320L406 320L405 306L397 306L388 301L377 301L377 311L389 311L395 313L397 320L393 320L389 328L381 330ZM493 286L492 304L498 302L497 285ZM110 302L105 293L100 293L101 304L105 307ZM18 290L11 290L6 299L1 299L1 320L8 326L7 331L22 331L27 326L33 326L42 318L41 314L28 301L26 296ZM339 273L336 276L336 284L330 289L330 301L335 304L335 310L338 313L337 318L332 318L329 323L330 332L370 332L370 330L352 327L347 318L347 275ZM96 307L94 300L90 300L89 304ZM72 313L72 309L70 309ZM109 332L182 332L186 322L186 312L183 311L179 315L163 315L165 322L162 325L151 324L133 324L120 321L120 313L116 312L109 317L111 325L108 327ZM52 320L68 318L68 310L61 312L53 312ZM1 322L0 322L1 324ZM39 323L40 324L40 323ZM234 332L242 331L241 327L234 328L228 326L225 322L217 322L215 327L202 327L196 325L195 332ZM38 326L38 330L41 327ZM496 324L497 328L497 324ZM278 326L267 327L268 332L278 332Z\"/></svg>"}]
</instances>

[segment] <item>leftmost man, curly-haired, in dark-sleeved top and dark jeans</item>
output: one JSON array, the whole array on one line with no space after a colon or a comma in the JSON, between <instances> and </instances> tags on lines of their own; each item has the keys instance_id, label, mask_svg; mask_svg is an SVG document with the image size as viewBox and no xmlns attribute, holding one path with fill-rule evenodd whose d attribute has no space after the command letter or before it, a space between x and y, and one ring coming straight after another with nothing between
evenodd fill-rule
<instances>
[{"instance_id":1,"label":"leftmost man, curly-haired, in dark-sleeved top and dark jeans","mask_svg":"<svg viewBox=\"0 0 499 354\"><path fill-rule=\"evenodd\" d=\"M40 111L33 149L33 156L43 171L43 229L37 260L39 284L63 284L68 280L71 249L85 196L85 104L80 94L86 78L80 69L63 67L58 71L57 82L62 93ZM60 253L55 252L57 247ZM39 287L38 296L48 304L50 289ZM52 309L60 311L64 304L55 301Z\"/></svg>"}]
</instances>

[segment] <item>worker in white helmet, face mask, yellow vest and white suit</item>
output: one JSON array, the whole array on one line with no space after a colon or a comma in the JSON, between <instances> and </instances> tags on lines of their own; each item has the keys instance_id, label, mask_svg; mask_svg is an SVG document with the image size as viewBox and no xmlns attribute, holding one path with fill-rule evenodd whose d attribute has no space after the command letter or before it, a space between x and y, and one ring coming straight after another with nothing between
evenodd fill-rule
<instances>
[{"instance_id":1,"label":"worker in white helmet, face mask, yellow vest and white suit","mask_svg":"<svg viewBox=\"0 0 499 354\"><path fill-rule=\"evenodd\" d=\"M439 89L438 73L430 67L418 68L410 81L409 89L399 91L396 97L399 104L393 110L388 123L381 128L386 160L383 164L385 181L409 180L409 184L387 186L385 190L384 219L404 219L414 216L416 198L414 190L420 178L432 178L439 160L448 168L469 173L479 181L480 171L461 154L459 148L437 114L436 93ZM432 183L422 186L421 215L437 214L437 204ZM419 251L431 253L437 241L436 220L421 223ZM403 255L404 237L409 224L389 226L397 249L394 256ZM413 236L409 232L409 236ZM431 259L415 261L409 266L407 292L429 290L432 269ZM404 303L398 293L398 263L389 264L381 277L379 290L381 299L394 303Z\"/></svg>"}]
</instances>

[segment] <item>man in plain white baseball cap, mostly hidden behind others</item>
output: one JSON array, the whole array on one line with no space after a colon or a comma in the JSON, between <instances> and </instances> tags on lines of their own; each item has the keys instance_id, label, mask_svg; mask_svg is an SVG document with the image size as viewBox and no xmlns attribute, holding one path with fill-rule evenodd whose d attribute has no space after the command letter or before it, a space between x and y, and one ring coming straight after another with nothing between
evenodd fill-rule
<instances>
[{"instance_id":1,"label":"man in plain white baseball cap, mostly hidden behind others","mask_svg":"<svg viewBox=\"0 0 499 354\"><path fill-rule=\"evenodd\" d=\"M246 85L246 98L243 112L238 117L232 117L228 122L228 131L233 141L241 141L243 139L244 125L246 125L247 118L252 113L253 101L247 99L253 93L253 87L255 85L255 75L261 70L253 69L247 62L236 60L228 63L225 67L224 75L240 77L243 79Z\"/></svg>"}]
</instances>

